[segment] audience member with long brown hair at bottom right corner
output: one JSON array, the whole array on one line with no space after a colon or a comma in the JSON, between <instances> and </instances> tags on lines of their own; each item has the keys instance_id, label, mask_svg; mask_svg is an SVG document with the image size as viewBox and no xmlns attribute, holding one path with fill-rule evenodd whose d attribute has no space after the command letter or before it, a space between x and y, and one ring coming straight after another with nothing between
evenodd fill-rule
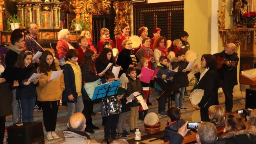
<instances>
[{"instance_id":1,"label":"audience member with long brown hair at bottom right corner","mask_svg":"<svg viewBox=\"0 0 256 144\"><path fill-rule=\"evenodd\" d=\"M247 124L240 114L228 113L225 124L224 134L220 136L225 144L256 144L256 128Z\"/></svg>"}]
</instances>

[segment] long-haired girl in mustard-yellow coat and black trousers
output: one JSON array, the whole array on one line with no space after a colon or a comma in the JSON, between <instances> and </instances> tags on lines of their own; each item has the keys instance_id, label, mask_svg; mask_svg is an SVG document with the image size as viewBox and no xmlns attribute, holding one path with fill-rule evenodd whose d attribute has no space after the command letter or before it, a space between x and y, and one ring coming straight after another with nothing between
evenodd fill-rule
<instances>
[{"instance_id":1,"label":"long-haired girl in mustard-yellow coat and black trousers","mask_svg":"<svg viewBox=\"0 0 256 144\"><path fill-rule=\"evenodd\" d=\"M37 100L43 109L44 126L47 132L46 138L48 140L58 139L59 136L55 133L57 112L60 100L62 98L62 92L65 89L64 74L56 80L51 80L53 71L61 70L60 66L56 66L52 53L45 50L42 53L38 73L44 73L39 78L39 86L37 90Z\"/></svg>"}]
</instances>

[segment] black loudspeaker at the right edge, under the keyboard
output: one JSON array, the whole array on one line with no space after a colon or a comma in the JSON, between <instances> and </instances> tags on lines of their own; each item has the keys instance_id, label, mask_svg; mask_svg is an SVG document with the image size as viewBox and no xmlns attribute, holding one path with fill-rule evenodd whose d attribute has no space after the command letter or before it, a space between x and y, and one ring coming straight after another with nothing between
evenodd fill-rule
<instances>
[{"instance_id":1,"label":"black loudspeaker at the right edge, under the keyboard","mask_svg":"<svg viewBox=\"0 0 256 144\"><path fill-rule=\"evenodd\" d=\"M245 92L245 108L256 108L256 88L248 88Z\"/></svg>"}]
</instances>

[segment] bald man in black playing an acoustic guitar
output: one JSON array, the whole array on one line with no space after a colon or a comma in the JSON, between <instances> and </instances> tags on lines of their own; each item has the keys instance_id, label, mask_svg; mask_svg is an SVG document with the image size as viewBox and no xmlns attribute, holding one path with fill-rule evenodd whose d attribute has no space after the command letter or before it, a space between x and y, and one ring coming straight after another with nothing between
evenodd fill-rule
<instances>
[{"instance_id":1,"label":"bald man in black playing an acoustic guitar","mask_svg":"<svg viewBox=\"0 0 256 144\"><path fill-rule=\"evenodd\" d=\"M220 56L227 60L226 64L223 64L221 68L218 69L220 86L225 94L225 106L227 112L232 112L233 108L233 88L237 83L237 64L239 58L235 52L236 45L234 43L229 43L226 45L224 50L220 53L214 54L215 57ZM231 62L235 64L231 64Z\"/></svg>"}]
</instances>

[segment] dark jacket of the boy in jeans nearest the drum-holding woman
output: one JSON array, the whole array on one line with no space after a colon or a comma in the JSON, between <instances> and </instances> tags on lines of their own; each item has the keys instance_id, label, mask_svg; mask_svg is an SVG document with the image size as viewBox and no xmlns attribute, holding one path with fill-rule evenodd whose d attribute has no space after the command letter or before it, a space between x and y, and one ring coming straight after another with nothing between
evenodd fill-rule
<instances>
[{"instance_id":1,"label":"dark jacket of the boy in jeans nearest the drum-holding woman","mask_svg":"<svg viewBox=\"0 0 256 144\"><path fill-rule=\"evenodd\" d=\"M175 58L175 61L172 63L172 69L178 68L178 72L174 75L174 83L175 85L182 84L181 87L187 87L188 86L188 74L190 71L182 72L182 70L186 69L187 63L185 61L180 61L178 58Z\"/></svg>"}]
</instances>

